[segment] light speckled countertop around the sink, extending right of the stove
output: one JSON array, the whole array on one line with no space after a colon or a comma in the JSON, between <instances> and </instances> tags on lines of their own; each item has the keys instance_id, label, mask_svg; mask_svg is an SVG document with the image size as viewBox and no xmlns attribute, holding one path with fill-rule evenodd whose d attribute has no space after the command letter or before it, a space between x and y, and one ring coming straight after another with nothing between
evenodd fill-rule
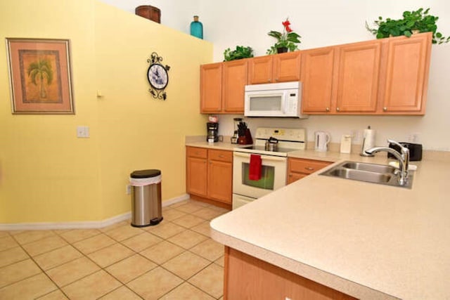
<instances>
[{"instance_id":1,"label":"light speckled countertop around the sink, extending right of the stove","mask_svg":"<svg viewBox=\"0 0 450 300\"><path fill-rule=\"evenodd\" d=\"M388 162L384 152L289 156ZM212 237L359 299L450 299L450 160L411 164L411 189L319 176L322 169L214 219Z\"/></svg>"}]
</instances>

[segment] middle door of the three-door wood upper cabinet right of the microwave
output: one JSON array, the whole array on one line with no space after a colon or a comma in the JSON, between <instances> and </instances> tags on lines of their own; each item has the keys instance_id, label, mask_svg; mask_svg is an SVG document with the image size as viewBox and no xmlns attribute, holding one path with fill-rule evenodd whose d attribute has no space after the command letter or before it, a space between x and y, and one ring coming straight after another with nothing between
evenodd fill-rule
<instances>
[{"instance_id":1,"label":"middle door of the three-door wood upper cabinet right of the microwave","mask_svg":"<svg viewBox=\"0 0 450 300\"><path fill-rule=\"evenodd\" d=\"M379 41L338 47L336 112L376 111L380 54Z\"/></svg>"}]
</instances>

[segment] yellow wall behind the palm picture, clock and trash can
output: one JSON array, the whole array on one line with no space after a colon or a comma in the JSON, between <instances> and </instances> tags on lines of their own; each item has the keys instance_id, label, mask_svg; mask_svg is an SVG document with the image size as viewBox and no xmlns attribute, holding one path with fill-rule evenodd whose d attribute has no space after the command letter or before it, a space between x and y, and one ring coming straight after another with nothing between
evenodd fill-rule
<instances>
[{"instance_id":1,"label":"yellow wall behind the palm picture, clock and trash can","mask_svg":"<svg viewBox=\"0 0 450 300\"><path fill-rule=\"evenodd\" d=\"M162 199L186 193L184 138L204 135L200 64L212 44L93 0L5 1L0 39L70 39L75 115L12 115L0 47L0 223L99 221L126 213L129 173L162 171ZM147 59L169 65L167 100ZM96 96L100 91L103 97ZM77 138L89 126L90 138Z\"/></svg>"}]
</instances>

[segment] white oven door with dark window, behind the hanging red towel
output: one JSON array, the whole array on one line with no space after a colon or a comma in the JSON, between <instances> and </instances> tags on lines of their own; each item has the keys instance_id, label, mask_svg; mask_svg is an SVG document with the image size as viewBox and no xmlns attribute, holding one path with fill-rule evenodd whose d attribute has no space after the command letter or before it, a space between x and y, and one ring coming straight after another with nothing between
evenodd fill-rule
<instances>
[{"instance_id":1,"label":"white oven door with dark window, behind the hanging red towel","mask_svg":"<svg viewBox=\"0 0 450 300\"><path fill-rule=\"evenodd\" d=\"M248 178L250 153L233 152L233 194L259 198L286 185L287 157L261 155L262 176L258 181Z\"/></svg>"}]
</instances>

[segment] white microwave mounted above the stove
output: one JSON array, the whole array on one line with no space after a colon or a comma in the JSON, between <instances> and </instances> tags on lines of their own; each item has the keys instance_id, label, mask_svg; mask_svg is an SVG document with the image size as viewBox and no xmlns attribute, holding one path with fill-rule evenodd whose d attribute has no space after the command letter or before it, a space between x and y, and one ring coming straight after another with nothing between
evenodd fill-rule
<instances>
[{"instance_id":1,"label":"white microwave mounted above the stove","mask_svg":"<svg viewBox=\"0 0 450 300\"><path fill-rule=\"evenodd\" d=\"M308 117L301 114L300 81L245 86L244 103L246 117Z\"/></svg>"}]
</instances>

